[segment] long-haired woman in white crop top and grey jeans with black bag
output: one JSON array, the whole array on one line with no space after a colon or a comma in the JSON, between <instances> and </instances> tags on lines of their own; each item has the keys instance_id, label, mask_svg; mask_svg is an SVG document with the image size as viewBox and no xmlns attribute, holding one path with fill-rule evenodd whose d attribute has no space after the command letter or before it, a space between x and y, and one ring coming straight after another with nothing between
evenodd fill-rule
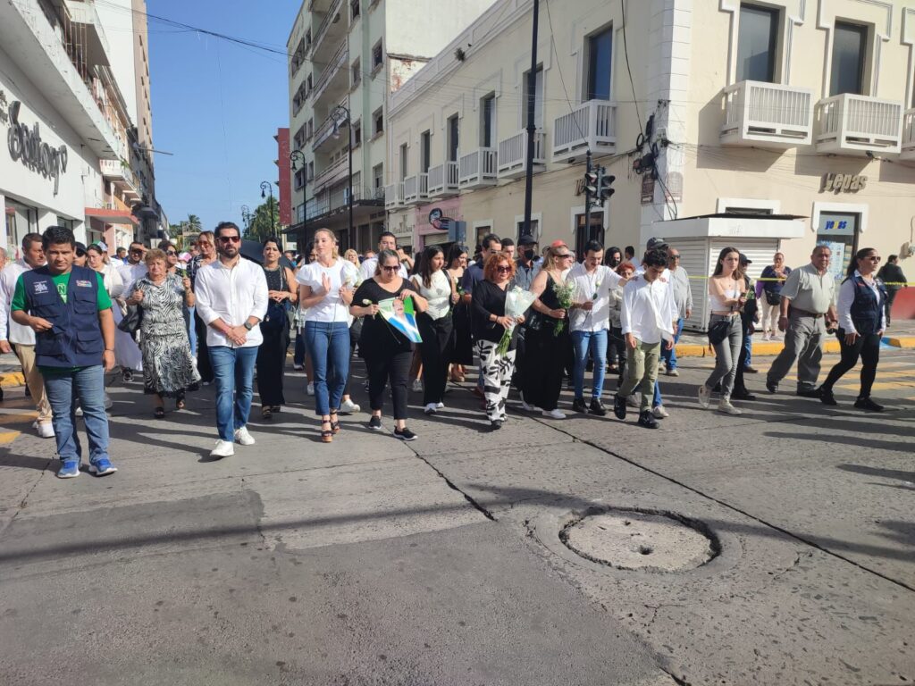
<instances>
[{"instance_id":1,"label":"long-haired woman in white crop top and grey jeans with black bag","mask_svg":"<svg viewBox=\"0 0 915 686\"><path fill-rule=\"evenodd\" d=\"M741 414L731 404L731 391L737 376L737 361L743 346L743 327L740 323L740 308L747 302L747 282L740 266L740 252L737 248L725 248L718 255L715 273L708 280L708 302L712 316L709 329L727 325L727 334L715 347L715 369L699 387L699 404L708 407L712 389L721 382L721 401L718 410L727 414Z\"/></svg>"}]
</instances>

